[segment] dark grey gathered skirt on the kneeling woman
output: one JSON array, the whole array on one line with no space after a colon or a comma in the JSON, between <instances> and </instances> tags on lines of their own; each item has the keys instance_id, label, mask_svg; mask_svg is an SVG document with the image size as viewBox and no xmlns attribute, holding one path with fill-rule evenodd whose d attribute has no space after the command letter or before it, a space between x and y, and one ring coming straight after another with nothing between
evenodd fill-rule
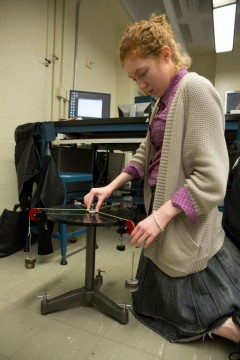
<instances>
[{"instance_id":1,"label":"dark grey gathered skirt on the kneeling woman","mask_svg":"<svg viewBox=\"0 0 240 360\"><path fill-rule=\"evenodd\" d=\"M240 252L225 238L208 267L172 278L141 255L133 312L171 342L193 341L220 326L240 308Z\"/></svg>"}]
</instances>

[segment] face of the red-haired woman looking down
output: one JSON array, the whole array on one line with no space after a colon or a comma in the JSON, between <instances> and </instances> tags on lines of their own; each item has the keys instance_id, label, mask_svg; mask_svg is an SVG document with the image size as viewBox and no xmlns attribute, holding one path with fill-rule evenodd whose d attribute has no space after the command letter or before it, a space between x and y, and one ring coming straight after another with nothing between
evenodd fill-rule
<instances>
[{"instance_id":1,"label":"face of the red-haired woman looking down","mask_svg":"<svg viewBox=\"0 0 240 360\"><path fill-rule=\"evenodd\" d=\"M162 97L175 74L170 49L161 57L128 57L123 63L128 76L140 90L154 97Z\"/></svg>"}]
</instances>

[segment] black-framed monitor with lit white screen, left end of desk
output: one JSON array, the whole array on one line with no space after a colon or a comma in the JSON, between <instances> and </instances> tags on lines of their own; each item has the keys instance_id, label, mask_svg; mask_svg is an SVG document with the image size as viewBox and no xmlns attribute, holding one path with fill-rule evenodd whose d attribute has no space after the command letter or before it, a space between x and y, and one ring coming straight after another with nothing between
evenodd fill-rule
<instances>
[{"instance_id":1,"label":"black-framed monitor with lit white screen, left end of desk","mask_svg":"<svg viewBox=\"0 0 240 360\"><path fill-rule=\"evenodd\" d=\"M111 95L70 90L69 118L109 118Z\"/></svg>"}]
</instances>

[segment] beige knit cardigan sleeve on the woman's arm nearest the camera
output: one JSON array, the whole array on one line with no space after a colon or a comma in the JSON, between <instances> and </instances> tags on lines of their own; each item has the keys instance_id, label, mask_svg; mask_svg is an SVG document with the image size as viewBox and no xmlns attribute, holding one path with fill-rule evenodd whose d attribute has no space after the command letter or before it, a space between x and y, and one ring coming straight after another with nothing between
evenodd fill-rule
<instances>
[{"instance_id":1,"label":"beige knit cardigan sleeve on the woman's arm nearest the camera","mask_svg":"<svg viewBox=\"0 0 240 360\"><path fill-rule=\"evenodd\" d=\"M183 164L185 186L196 214L219 205L226 192L229 160L220 97L205 78L187 83Z\"/></svg>"}]
</instances>

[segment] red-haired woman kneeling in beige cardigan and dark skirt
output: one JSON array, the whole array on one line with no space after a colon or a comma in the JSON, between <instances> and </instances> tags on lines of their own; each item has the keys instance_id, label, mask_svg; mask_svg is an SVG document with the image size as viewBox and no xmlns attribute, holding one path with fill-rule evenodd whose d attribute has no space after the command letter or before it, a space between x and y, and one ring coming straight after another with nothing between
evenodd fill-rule
<instances>
[{"instance_id":1,"label":"red-haired woman kneeling in beige cardigan and dark skirt","mask_svg":"<svg viewBox=\"0 0 240 360\"><path fill-rule=\"evenodd\" d=\"M188 72L191 59L165 15L130 26L120 60L158 101L130 163L109 185L93 188L85 204L97 197L98 211L124 183L144 178L148 216L131 234L143 246L136 316L172 342L206 334L239 342L240 257L218 211L229 172L220 98L207 79Z\"/></svg>"}]
</instances>

